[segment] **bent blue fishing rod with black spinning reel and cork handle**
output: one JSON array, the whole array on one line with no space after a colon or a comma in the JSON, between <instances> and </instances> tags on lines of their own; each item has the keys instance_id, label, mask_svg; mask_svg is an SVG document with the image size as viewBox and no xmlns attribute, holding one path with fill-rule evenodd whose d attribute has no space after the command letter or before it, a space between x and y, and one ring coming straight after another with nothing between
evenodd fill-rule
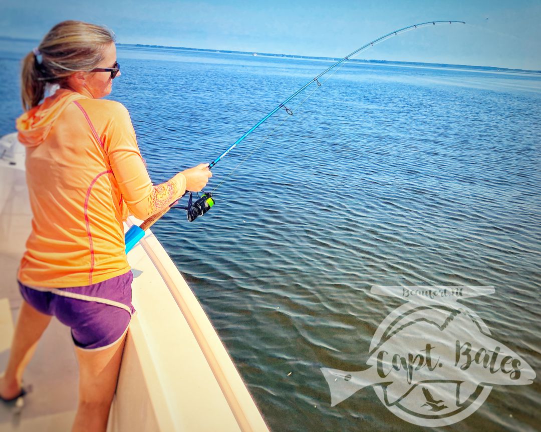
<instances>
[{"instance_id":1,"label":"bent blue fishing rod with black spinning reel and cork handle","mask_svg":"<svg viewBox=\"0 0 541 432\"><path fill-rule=\"evenodd\" d=\"M230 151L232 151L238 144L240 144L250 133L252 133L254 130L256 130L263 122L265 122L268 118L273 116L273 114L275 114L280 109L282 109L282 108L285 109L287 114L289 114L289 116L292 116L293 111L286 106L287 103L289 103L295 96L299 95L299 93L301 93L303 90L305 90L306 87L308 87L309 85L315 83L316 86L315 86L315 89L312 91L312 93L313 93L315 90L317 90L321 86L322 83L319 82L319 79L322 76L324 76L327 72L329 72L329 71L331 71L333 69L334 69L334 72L331 74L331 76L334 75L334 73L336 71L338 71L338 69L340 69L353 56L358 55L360 52L362 52L362 51L364 51L364 50L366 50L368 48L371 48L375 44L383 42L384 40L390 39L390 38L392 38L394 36L401 35L402 33L405 33L405 32L410 31L410 30L415 30L415 29L425 27L425 26L428 26L428 25L435 26L435 25L439 25L439 24L453 24L453 23L466 24L465 21L452 21L452 20L451 21L450 20L446 20L446 21L427 21L426 23L408 25L407 27L391 31L390 33L387 33L384 36L381 36L381 37L379 37L377 39L372 40L372 42L368 42L366 45L362 45L361 48L353 51L351 54L347 55L346 57L342 58L341 60L338 60L338 62L336 62L333 65L329 66L325 71L321 72L318 76L316 76L313 79L309 80L304 86L302 86L299 90L294 92L293 95L289 96L280 105L276 106L271 112L269 112L265 117L263 117L261 120L259 120L258 123L256 123L254 126L252 126L245 134L243 134L232 145L230 145L225 152L223 152L222 154L220 154L220 156L218 156L216 159L214 159L209 164L209 166L208 166L209 169L214 167L217 163L219 163L220 160L222 160L224 157L226 157L227 154ZM339 67L337 68L337 66L339 66ZM331 78L331 76L329 76L327 79ZM302 100L302 102L295 108L295 110L298 109L298 107L301 106L305 102L305 100L308 99L308 97L310 97L312 95L312 93L310 93L304 100ZM287 118L288 118L288 116L286 116L286 119ZM282 121L282 123L285 122L286 119L284 119ZM281 123L280 123L280 125L281 125ZM271 134L273 132L271 132ZM269 136L270 136L270 134L269 134ZM268 138L268 136L265 138L265 140L267 138ZM265 141L265 140L263 140L263 141ZM256 147L256 149L258 147ZM252 153L253 153L253 151L252 151ZM252 154L252 153L250 153L250 154ZM248 156L250 156L250 154L248 154ZM241 162L241 164L245 160L246 160L246 158ZM239 164L239 166L241 164ZM239 166L237 166L236 168L238 168ZM235 168L235 170L236 170L236 168ZM229 176L230 175L231 174L229 174ZM229 176L227 176L227 177L229 177ZM227 179L227 177L226 177L226 179ZM223 180L223 181L225 181L225 180ZM223 181L222 181L222 183L223 183ZM220 185L221 185L221 183L220 183ZM218 186L220 186L220 185L218 185ZM218 186L216 186L214 188L214 191L217 189ZM212 197L213 192L206 193L206 192L203 191L201 197L198 197L195 200L193 198L192 192L188 192L188 194L189 194L188 205L186 207L180 207L180 208L183 208L184 210L187 211L188 221L192 222L197 217L202 216L203 214L207 213L210 210L210 208L214 205L214 199ZM133 248L137 244L137 242L144 237L144 232L146 230L148 230L148 228L150 228L152 225L154 225L154 223L158 219L160 219L164 214L166 214L171 208L173 208L175 204L170 205L169 207L166 207L161 212L152 215L150 218L145 220L140 226L136 226L136 225L131 226L130 229L128 230L128 232L126 233L126 237L125 237L126 253L128 253L131 250L131 248Z\"/></svg>"}]
</instances>

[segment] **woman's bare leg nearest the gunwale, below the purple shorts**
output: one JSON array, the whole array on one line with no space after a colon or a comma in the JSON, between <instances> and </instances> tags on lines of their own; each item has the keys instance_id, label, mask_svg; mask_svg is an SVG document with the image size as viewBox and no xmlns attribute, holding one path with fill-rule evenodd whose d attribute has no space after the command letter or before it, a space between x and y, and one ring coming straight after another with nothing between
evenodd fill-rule
<instances>
[{"instance_id":1,"label":"woman's bare leg nearest the gunwale, below the purple shorts","mask_svg":"<svg viewBox=\"0 0 541 432\"><path fill-rule=\"evenodd\" d=\"M72 432L105 432L116 390L126 334L101 351L75 348L79 362L79 404Z\"/></svg>"}]
</instances>

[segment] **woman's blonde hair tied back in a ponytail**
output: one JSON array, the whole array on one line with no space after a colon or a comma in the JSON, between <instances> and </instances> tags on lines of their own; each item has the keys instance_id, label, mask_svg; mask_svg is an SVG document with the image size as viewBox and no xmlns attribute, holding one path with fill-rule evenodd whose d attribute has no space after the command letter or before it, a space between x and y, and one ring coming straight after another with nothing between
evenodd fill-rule
<instances>
[{"instance_id":1,"label":"woman's blonde hair tied back in a ponytail","mask_svg":"<svg viewBox=\"0 0 541 432\"><path fill-rule=\"evenodd\" d=\"M25 111L37 106L47 83L61 87L77 71L91 71L103 60L104 48L115 35L100 25L63 21L44 36L23 59L21 98Z\"/></svg>"}]
</instances>

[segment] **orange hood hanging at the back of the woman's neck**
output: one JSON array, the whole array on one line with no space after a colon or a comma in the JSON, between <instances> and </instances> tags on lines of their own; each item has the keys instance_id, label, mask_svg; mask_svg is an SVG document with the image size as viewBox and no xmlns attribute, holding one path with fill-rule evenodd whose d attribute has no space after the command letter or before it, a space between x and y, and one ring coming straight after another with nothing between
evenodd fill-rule
<instances>
[{"instance_id":1,"label":"orange hood hanging at the back of the woman's neck","mask_svg":"<svg viewBox=\"0 0 541 432\"><path fill-rule=\"evenodd\" d=\"M17 119L18 139L24 146L36 147L47 138L55 120L65 107L85 96L67 89L58 89L54 95Z\"/></svg>"}]
</instances>

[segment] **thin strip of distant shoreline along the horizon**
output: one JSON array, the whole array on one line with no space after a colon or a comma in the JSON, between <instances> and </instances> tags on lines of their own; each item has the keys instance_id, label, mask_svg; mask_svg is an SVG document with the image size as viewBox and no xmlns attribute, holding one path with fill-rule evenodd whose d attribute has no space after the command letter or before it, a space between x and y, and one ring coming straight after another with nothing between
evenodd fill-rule
<instances>
[{"instance_id":1,"label":"thin strip of distant shoreline along the horizon","mask_svg":"<svg viewBox=\"0 0 541 432\"><path fill-rule=\"evenodd\" d=\"M37 39L25 39L14 38L9 36L0 36L0 40L12 40L14 42L39 42ZM250 56L265 56L265 57L283 57L283 58L300 58L300 59L313 59L313 60L330 60L337 62L341 58L336 57L313 57L313 56L299 56L293 54L275 54L269 52L257 52L257 51L233 51L233 50L212 50L207 48L188 48L185 46L167 46L167 45L147 45L147 44L122 44L117 43L120 48L154 48L170 51L203 51L203 52L219 52L226 54L244 54ZM448 69L469 69L477 71L487 72L520 72L520 73L535 73L540 74L541 71L527 70L527 69L511 69L511 68L498 68L496 66L472 66L463 64L445 64L445 63L423 63L423 62L399 62L391 60L373 60L373 59L350 59L349 62L357 63L372 63L372 64L387 64L387 65L399 65L399 66L418 66L424 68L448 68Z\"/></svg>"}]
</instances>

